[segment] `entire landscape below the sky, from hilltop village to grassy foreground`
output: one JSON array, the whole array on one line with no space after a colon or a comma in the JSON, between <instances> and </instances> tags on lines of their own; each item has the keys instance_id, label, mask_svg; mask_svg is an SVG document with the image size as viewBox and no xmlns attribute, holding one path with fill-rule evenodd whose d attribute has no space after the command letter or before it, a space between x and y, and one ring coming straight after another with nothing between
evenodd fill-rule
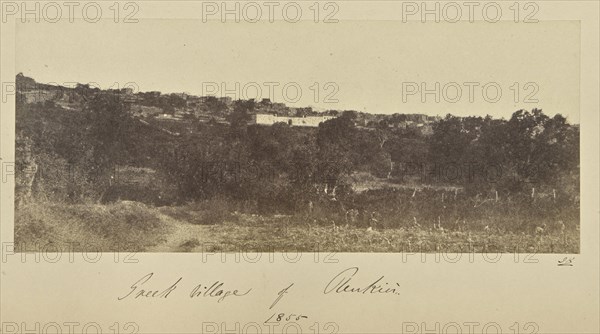
<instances>
[{"instance_id":1,"label":"entire landscape below the sky, from hilltop village to grassy foreground","mask_svg":"<svg viewBox=\"0 0 600 334\"><path fill-rule=\"evenodd\" d=\"M579 127L560 114L316 112L16 81L17 242L579 251Z\"/></svg>"}]
</instances>

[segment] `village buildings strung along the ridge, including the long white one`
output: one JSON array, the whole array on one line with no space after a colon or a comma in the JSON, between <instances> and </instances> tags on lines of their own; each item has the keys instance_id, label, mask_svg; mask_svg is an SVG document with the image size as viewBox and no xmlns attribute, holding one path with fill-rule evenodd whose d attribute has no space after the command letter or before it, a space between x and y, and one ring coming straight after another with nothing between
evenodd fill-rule
<instances>
[{"instance_id":1,"label":"village buildings strung along the ridge, including the long white one","mask_svg":"<svg viewBox=\"0 0 600 334\"><path fill-rule=\"evenodd\" d=\"M64 87L36 82L22 73L17 75L17 101L27 104L51 101L66 110L78 110L82 103L96 94L115 94L129 105L132 116L145 123L182 125L191 122L229 123L234 100L231 97L195 96L185 93L134 92L131 88L101 90L77 84ZM317 127L320 123L338 117L344 111L314 111L311 107L289 107L284 103L263 99L256 103L251 124L273 125L278 122L290 126ZM432 133L432 124L441 119L424 114L382 115L351 111L356 114L355 124L360 128L414 129L423 135ZM179 123L179 124L178 124Z\"/></svg>"}]
</instances>

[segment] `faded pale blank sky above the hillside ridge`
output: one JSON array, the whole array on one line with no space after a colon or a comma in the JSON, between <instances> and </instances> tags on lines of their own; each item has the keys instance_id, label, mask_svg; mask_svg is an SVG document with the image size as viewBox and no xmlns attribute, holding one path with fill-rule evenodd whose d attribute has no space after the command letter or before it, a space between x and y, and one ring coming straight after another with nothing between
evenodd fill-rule
<instances>
[{"instance_id":1,"label":"faded pale blank sky above the hillside ridge","mask_svg":"<svg viewBox=\"0 0 600 334\"><path fill-rule=\"evenodd\" d=\"M272 87L275 102L320 110L508 117L537 107L576 123L579 59L576 21L18 23L16 39L17 72L38 82L93 82L103 89L135 82L141 91L195 95L202 95L203 86L204 93L217 87L216 94L223 95L223 84L235 90L239 83L241 98L269 97ZM406 83L434 89L436 82L439 103L434 94L422 102L419 92L403 101L403 86L416 87ZM487 83L486 100L482 86ZM472 102L469 85L474 85ZM498 87L502 95L491 102ZM297 88L302 94L293 103ZM329 102L339 102L326 103L329 94ZM527 102L535 99L539 102Z\"/></svg>"}]
</instances>

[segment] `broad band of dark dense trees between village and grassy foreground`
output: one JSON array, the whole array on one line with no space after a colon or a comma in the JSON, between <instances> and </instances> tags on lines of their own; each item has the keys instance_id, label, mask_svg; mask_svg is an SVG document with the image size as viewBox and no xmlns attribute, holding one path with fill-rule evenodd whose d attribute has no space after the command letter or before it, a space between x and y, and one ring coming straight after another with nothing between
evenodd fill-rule
<instances>
[{"instance_id":1,"label":"broad band of dark dense trees between village and grassy foreground","mask_svg":"<svg viewBox=\"0 0 600 334\"><path fill-rule=\"evenodd\" d=\"M148 93L153 96L159 98ZM172 95L156 103L182 101ZM448 115L425 136L385 122L357 127L351 111L318 128L249 125L256 108L253 100L235 101L229 125L195 122L195 131L173 136L132 118L118 94L96 94L82 111L20 102L17 146L42 166L41 191L75 200L102 198L113 187L115 165L159 171L176 189L174 200L227 197L264 211L297 211L332 199L343 204L355 173L455 185L473 194L532 187L578 194L579 128L560 114L519 110L508 120ZM476 178L437 175L438 168L457 166L484 171Z\"/></svg>"}]
</instances>

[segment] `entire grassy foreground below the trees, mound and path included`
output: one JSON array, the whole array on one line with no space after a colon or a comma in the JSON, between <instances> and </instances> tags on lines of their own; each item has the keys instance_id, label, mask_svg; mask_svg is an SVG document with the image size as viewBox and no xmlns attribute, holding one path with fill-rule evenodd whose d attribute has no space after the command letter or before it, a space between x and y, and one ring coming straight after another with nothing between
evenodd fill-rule
<instances>
[{"instance_id":1,"label":"entire grassy foreground below the trees, mound and path included","mask_svg":"<svg viewBox=\"0 0 600 334\"><path fill-rule=\"evenodd\" d=\"M493 221L483 223L372 228L306 216L228 212L214 202L159 208L130 201L44 203L19 209L15 240L75 243L80 250L102 251L579 253L578 224L511 232Z\"/></svg>"}]
</instances>

